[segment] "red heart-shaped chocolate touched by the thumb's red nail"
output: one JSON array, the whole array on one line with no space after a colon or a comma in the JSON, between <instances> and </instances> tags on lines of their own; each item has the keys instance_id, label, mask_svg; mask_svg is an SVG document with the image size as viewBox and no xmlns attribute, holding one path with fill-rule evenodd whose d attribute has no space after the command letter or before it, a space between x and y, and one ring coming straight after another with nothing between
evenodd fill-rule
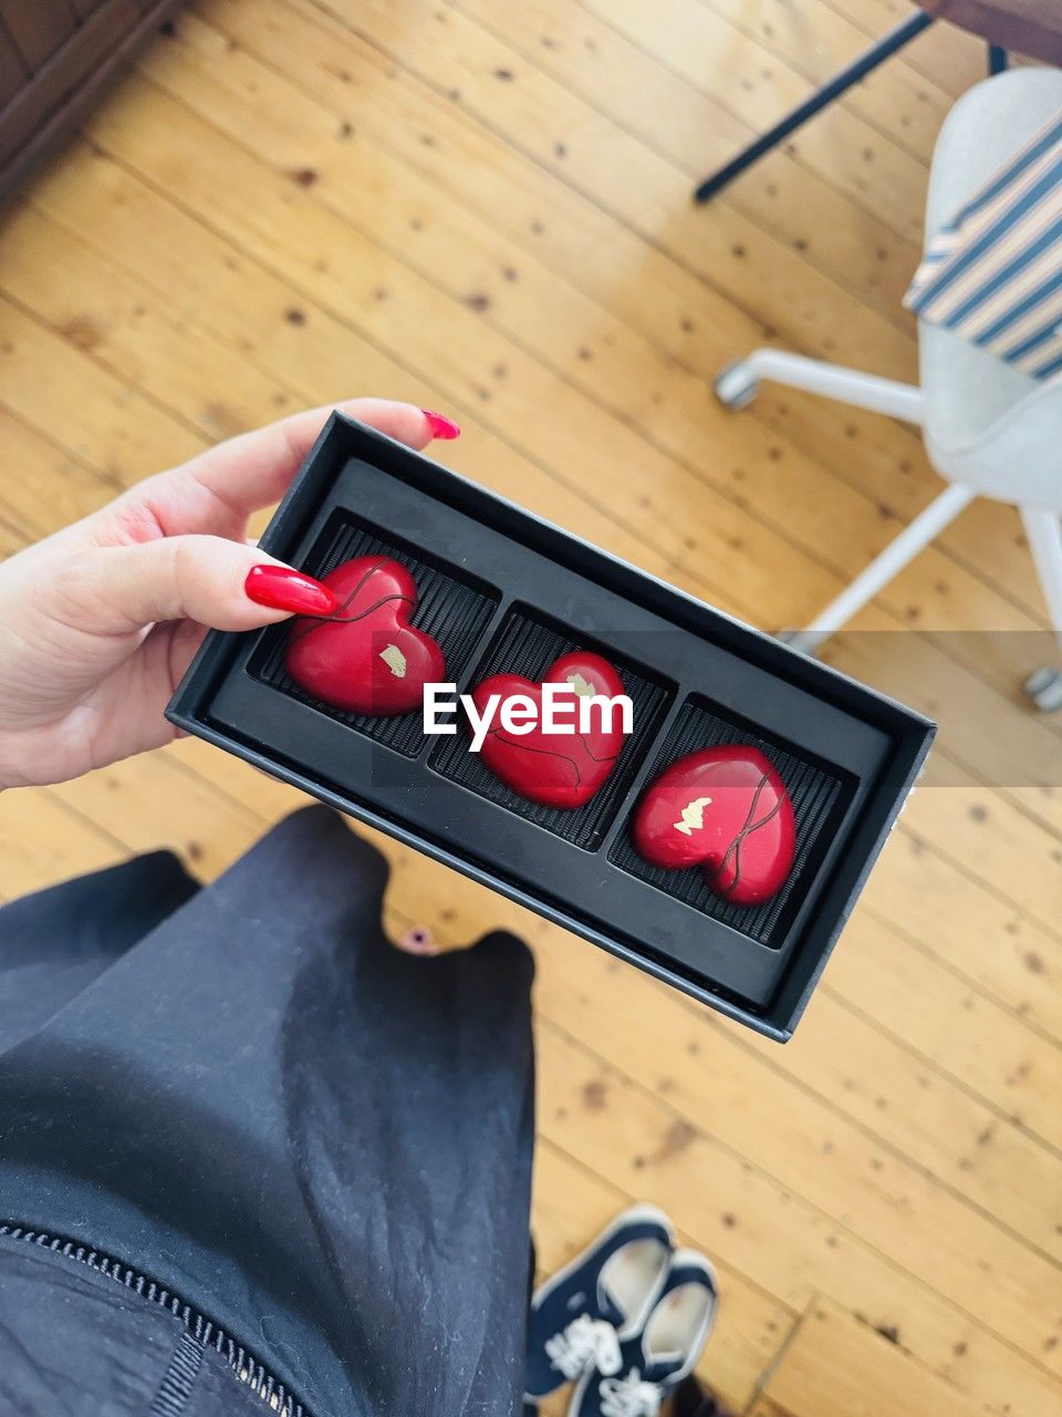
<instances>
[{"instance_id":1,"label":"red heart-shaped chocolate touched by the thumb's red nail","mask_svg":"<svg viewBox=\"0 0 1062 1417\"><path fill-rule=\"evenodd\" d=\"M324 585L338 605L321 619L299 616L287 639L287 673L314 699L347 713L411 713L423 686L446 679L430 635L413 629L416 582L385 555L337 565Z\"/></svg>"}]
</instances>

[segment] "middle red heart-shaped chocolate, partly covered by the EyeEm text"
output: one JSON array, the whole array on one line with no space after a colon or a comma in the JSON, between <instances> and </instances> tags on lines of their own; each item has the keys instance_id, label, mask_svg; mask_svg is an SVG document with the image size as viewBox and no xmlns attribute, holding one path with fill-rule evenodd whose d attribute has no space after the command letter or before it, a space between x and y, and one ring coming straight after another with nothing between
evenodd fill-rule
<instances>
[{"instance_id":1,"label":"middle red heart-shaped chocolate, partly covered by the EyeEm text","mask_svg":"<svg viewBox=\"0 0 1062 1417\"><path fill-rule=\"evenodd\" d=\"M473 690L472 699L481 714L491 694L498 694L503 703L514 694L524 694L534 703L541 720L542 684L568 686L575 713L566 710L566 693L558 697L564 704L561 711L565 720L576 731L547 733L539 721L530 733L511 734L496 714L480 755L496 777L531 802L542 806L585 806L616 765L626 734L619 708L610 716L607 730L602 711L593 710L588 731L579 733L575 717L579 697L593 693L615 699L624 691L623 680L607 659L575 650L572 655L562 655L541 684L520 674L491 674Z\"/></svg>"}]
</instances>

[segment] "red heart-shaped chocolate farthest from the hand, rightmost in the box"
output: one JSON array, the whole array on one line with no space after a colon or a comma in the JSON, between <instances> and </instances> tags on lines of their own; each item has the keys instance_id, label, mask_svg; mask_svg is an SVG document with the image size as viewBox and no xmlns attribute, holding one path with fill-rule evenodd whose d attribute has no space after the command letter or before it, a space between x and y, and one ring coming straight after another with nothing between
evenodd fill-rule
<instances>
[{"instance_id":1,"label":"red heart-shaped chocolate farthest from the hand, rightmost in the box","mask_svg":"<svg viewBox=\"0 0 1062 1417\"><path fill-rule=\"evenodd\" d=\"M647 789L634 815L634 846L653 866L702 866L712 888L756 905L793 869L793 803L772 764L752 747L691 752Z\"/></svg>"}]
</instances>

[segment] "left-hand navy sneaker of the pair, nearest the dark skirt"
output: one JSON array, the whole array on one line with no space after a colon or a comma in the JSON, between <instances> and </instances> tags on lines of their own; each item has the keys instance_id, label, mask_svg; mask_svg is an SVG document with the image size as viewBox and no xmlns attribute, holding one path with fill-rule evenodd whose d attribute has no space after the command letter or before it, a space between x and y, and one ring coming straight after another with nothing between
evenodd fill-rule
<instances>
[{"instance_id":1,"label":"left-hand navy sneaker of the pair, nearest the dark skirt","mask_svg":"<svg viewBox=\"0 0 1062 1417\"><path fill-rule=\"evenodd\" d=\"M586 1372L616 1373L668 1274L671 1221L632 1206L535 1292L527 1333L527 1401Z\"/></svg>"}]
</instances>

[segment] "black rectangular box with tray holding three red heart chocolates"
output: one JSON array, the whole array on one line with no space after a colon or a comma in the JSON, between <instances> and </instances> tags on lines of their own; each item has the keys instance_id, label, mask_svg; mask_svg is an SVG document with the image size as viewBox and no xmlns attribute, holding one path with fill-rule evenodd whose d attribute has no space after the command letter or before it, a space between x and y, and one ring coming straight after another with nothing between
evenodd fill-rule
<instances>
[{"instance_id":1,"label":"black rectangular box with tray holding three red heart chocolates","mask_svg":"<svg viewBox=\"0 0 1062 1417\"><path fill-rule=\"evenodd\" d=\"M770 1037L790 1037L929 751L933 724L588 546L382 434L333 415L262 538L324 575L385 554L413 574L412 622L470 691L605 655L634 706L607 782L576 811L537 806L421 713L371 718L312 700L283 666L285 625L211 633L173 723L568 927ZM793 799L796 864L755 907L700 869L633 849L643 788L695 748L750 743Z\"/></svg>"}]
</instances>

